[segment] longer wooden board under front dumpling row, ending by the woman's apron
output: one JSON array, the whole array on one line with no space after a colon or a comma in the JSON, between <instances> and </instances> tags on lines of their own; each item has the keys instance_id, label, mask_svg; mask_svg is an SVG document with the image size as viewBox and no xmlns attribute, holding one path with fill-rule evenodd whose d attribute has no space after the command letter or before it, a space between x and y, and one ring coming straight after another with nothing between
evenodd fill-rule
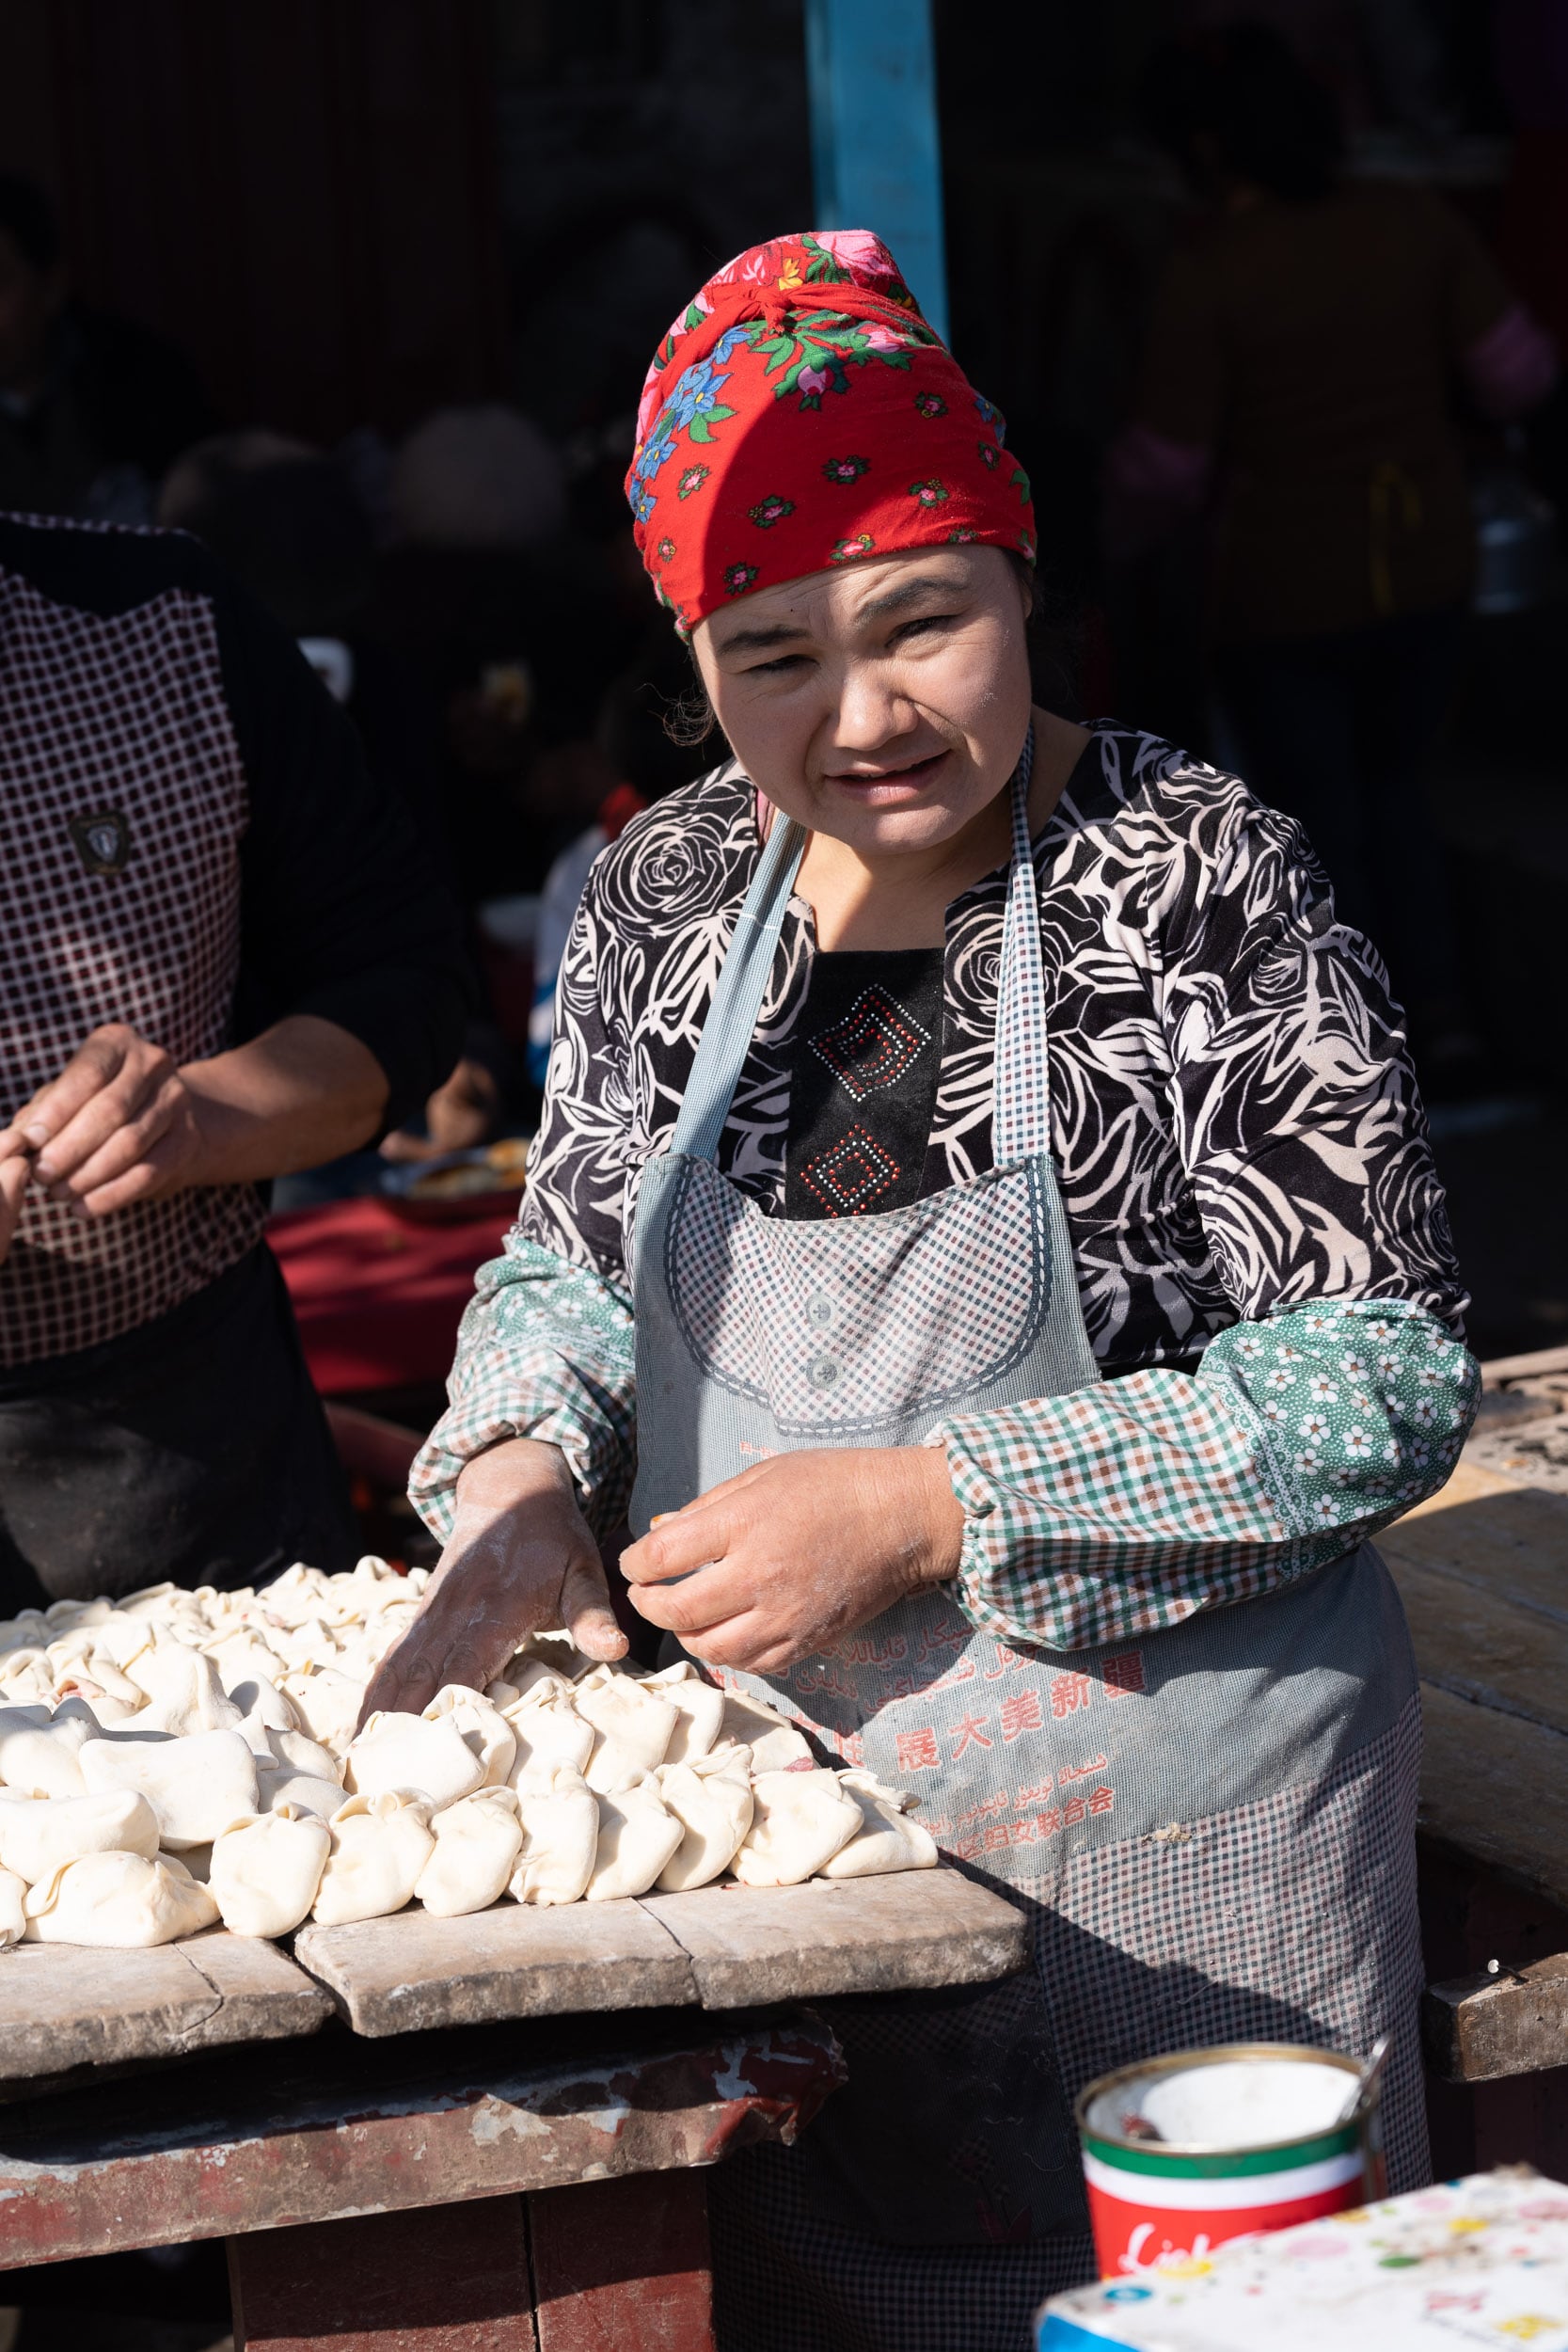
<instances>
[{"instance_id":1,"label":"longer wooden board under front dumpling row, ending by the woman's apron","mask_svg":"<svg viewBox=\"0 0 1568 2352\"><path fill-rule=\"evenodd\" d=\"M1011 1903L957 1870L468 1919L397 1912L294 1943L360 2034L588 2009L745 2009L830 1992L976 1985L1025 1959Z\"/></svg>"}]
</instances>

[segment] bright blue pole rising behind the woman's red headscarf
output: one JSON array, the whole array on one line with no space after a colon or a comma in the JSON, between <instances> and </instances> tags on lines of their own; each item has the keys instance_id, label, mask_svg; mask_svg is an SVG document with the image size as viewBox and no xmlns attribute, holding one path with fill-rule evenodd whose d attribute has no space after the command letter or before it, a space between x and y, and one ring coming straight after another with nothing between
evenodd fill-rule
<instances>
[{"instance_id":1,"label":"bright blue pole rising behind the woman's red headscarf","mask_svg":"<svg viewBox=\"0 0 1568 2352\"><path fill-rule=\"evenodd\" d=\"M947 334L931 0L806 0L816 228L870 228Z\"/></svg>"}]
</instances>

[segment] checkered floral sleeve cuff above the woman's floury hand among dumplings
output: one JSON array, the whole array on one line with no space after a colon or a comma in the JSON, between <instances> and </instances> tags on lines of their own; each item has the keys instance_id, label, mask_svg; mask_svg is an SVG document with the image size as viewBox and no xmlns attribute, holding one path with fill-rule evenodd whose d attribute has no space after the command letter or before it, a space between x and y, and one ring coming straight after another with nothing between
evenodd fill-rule
<instances>
[{"instance_id":1,"label":"checkered floral sleeve cuff above the woman's floury hand among dumplings","mask_svg":"<svg viewBox=\"0 0 1568 2352\"><path fill-rule=\"evenodd\" d=\"M522 1237L475 1277L447 1381L447 1411L414 1461L409 1501L447 1541L463 1463L508 1437L555 1444L595 1534L632 1491L637 1378L632 1301L585 1265Z\"/></svg>"}]
</instances>

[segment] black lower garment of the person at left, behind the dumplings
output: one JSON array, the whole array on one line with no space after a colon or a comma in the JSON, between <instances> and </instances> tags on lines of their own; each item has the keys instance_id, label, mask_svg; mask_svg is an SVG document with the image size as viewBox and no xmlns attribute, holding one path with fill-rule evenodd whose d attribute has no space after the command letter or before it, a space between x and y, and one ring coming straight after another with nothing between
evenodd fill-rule
<instances>
[{"instance_id":1,"label":"black lower garment of the person at left, behind the dumplings","mask_svg":"<svg viewBox=\"0 0 1568 2352\"><path fill-rule=\"evenodd\" d=\"M266 1244L172 1315L0 1371L0 1616L355 1555L348 1482Z\"/></svg>"}]
</instances>

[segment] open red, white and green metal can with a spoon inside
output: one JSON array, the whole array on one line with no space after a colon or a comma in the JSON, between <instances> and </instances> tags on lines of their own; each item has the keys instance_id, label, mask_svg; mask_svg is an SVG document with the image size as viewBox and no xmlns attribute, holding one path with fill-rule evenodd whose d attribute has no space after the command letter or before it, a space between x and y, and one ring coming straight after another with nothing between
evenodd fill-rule
<instances>
[{"instance_id":1,"label":"open red, white and green metal can with a spoon inside","mask_svg":"<svg viewBox=\"0 0 1568 2352\"><path fill-rule=\"evenodd\" d=\"M1192 2272L1232 2237L1382 2197L1378 2084L1352 2107L1361 2072L1342 2051L1234 2042L1091 2082L1077 2126L1100 2277Z\"/></svg>"}]
</instances>

